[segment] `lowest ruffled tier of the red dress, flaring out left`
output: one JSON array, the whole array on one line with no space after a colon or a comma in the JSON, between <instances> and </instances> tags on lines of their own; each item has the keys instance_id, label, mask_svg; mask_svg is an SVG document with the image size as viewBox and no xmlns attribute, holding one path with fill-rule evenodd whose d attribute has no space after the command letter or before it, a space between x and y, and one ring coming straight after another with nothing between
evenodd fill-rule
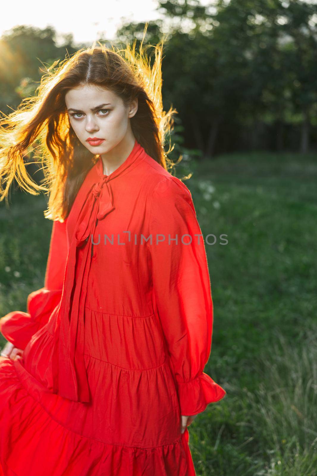
<instances>
[{"instance_id":1,"label":"lowest ruffled tier of the red dress, flaring out left","mask_svg":"<svg viewBox=\"0 0 317 476\"><path fill-rule=\"evenodd\" d=\"M58 400L53 399L50 408L43 408L43 388L19 361L0 357L0 373L1 438L6 441L1 445L4 475L151 476L154 468L161 476L195 475L188 464L188 430L174 442L149 448L99 441L64 426L58 416L63 411L65 415L65 408L62 410Z\"/></svg>"}]
</instances>

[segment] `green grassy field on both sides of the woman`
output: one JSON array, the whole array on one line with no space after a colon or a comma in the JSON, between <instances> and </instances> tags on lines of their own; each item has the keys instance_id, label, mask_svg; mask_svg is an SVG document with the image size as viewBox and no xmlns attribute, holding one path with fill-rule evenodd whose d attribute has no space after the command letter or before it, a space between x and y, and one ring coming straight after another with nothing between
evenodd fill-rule
<instances>
[{"instance_id":1,"label":"green grassy field on both sides of the woman","mask_svg":"<svg viewBox=\"0 0 317 476\"><path fill-rule=\"evenodd\" d=\"M194 169L185 183L204 237L217 237L206 245L214 328L205 372L227 391L189 426L197 475L314 476L316 156L234 154ZM44 198L12 202L0 204L1 316L25 310L43 286L50 242Z\"/></svg>"}]
</instances>

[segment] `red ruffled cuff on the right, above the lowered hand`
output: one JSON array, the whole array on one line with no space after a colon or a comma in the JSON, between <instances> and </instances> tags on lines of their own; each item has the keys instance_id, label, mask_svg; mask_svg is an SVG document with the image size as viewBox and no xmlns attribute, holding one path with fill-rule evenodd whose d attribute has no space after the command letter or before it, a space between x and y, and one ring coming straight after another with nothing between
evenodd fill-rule
<instances>
[{"instance_id":1,"label":"red ruffled cuff on the right, above the lowered hand","mask_svg":"<svg viewBox=\"0 0 317 476\"><path fill-rule=\"evenodd\" d=\"M226 391L204 372L189 382L177 382L181 415L197 415L209 403L218 402Z\"/></svg>"}]
</instances>

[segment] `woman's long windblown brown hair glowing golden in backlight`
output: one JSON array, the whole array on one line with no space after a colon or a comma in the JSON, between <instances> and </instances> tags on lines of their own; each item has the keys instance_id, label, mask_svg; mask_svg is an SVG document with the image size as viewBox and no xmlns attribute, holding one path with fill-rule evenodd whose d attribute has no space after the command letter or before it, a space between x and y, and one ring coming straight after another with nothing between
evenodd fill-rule
<instances>
[{"instance_id":1,"label":"woman's long windblown brown hair glowing golden in backlight","mask_svg":"<svg viewBox=\"0 0 317 476\"><path fill-rule=\"evenodd\" d=\"M117 94L125 106L138 99L137 113L130 119L134 137L150 157L168 170L175 163L164 150L166 134L173 127L172 107L162 107L161 61L164 40L154 47L153 66L136 40L124 49L99 46L82 48L71 57L55 61L47 69L34 97L23 99L19 108L0 121L0 201L8 196L14 178L18 185L38 195L49 194L46 218L63 221L68 216L76 194L97 157L85 148L70 126L65 94L79 85L94 84ZM34 147L34 143L37 145ZM44 184L38 185L27 173L26 151L39 150ZM2 184L5 183L5 187Z\"/></svg>"}]
</instances>

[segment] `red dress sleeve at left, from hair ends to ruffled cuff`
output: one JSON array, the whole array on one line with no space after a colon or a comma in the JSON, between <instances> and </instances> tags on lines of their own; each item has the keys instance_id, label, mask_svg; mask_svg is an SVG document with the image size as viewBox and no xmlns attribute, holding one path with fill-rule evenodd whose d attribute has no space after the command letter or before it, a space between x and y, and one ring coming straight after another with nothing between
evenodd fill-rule
<instances>
[{"instance_id":1,"label":"red dress sleeve at left, from hair ends to ruffled cuff","mask_svg":"<svg viewBox=\"0 0 317 476\"><path fill-rule=\"evenodd\" d=\"M59 304L68 253L66 220L53 221L44 287L27 297L27 312L11 311L0 318L1 334L15 347L25 349L30 338L49 320Z\"/></svg>"}]
</instances>

